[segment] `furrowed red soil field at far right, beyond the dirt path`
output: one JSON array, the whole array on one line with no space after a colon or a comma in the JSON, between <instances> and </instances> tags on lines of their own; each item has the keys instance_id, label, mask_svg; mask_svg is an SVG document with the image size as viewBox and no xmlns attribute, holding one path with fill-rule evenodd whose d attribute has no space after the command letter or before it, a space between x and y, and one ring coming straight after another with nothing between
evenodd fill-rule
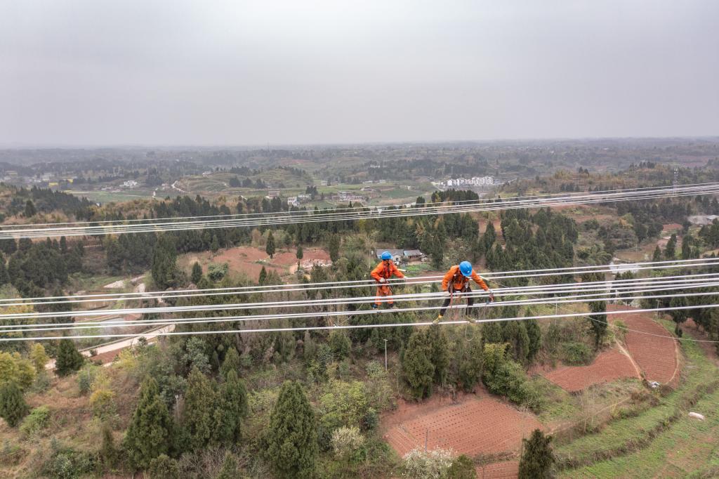
<instances>
[{"instance_id":1,"label":"furrowed red soil field at far right, beyond the dirt path","mask_svg":"<svg viewBox=\"0 0 719 479\"><path fill-rule=\"evenodd\" d=\"M611 304L608 311L631 311L631 306ZM628 329L626 345L629 354L639 366L646 379L661 384L675 383L679 380L676 341L667 337L667 329L652 319L651 313L612 314L610 321L621 319ZM650 333L650 334L643 334ZM660 337L664 336L664 337Z\"/></svg>"}]
</instances>

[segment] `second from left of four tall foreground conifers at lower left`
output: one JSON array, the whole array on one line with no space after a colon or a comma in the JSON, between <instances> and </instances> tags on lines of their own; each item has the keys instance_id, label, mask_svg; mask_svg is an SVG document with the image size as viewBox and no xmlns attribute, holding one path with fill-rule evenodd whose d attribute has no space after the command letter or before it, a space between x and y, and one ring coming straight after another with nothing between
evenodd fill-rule
<instances>
[{"instance_id":1,"label":"second from left of four tall foreground conifers at lower left","mask_svg":"<svg viewBox=\"0 0 719 479\"><path fill-rule=\"evenodd\" d=\"M190 447L200 450L214 433L215 392L212 383L198 368L187 378L182 425L190 437Z\"/></svg>"}]
</instances>

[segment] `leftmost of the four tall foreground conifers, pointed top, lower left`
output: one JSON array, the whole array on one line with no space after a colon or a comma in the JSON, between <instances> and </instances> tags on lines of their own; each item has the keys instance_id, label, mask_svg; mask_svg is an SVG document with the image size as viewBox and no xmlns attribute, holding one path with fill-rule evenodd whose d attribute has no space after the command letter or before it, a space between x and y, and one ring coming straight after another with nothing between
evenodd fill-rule
<instances>
[{"instance_id":1,"label":"leftmost of the four tall foreground conifers, pointed top, lower left","mask_svg":"<svg viewBox=\"0 0 719 479\"><path fill-rule=\"evenodd\" d=\"M160 397L157 381L147 376L139 390L139 401L125 434L124 448L135 467L147 467L150 461L170 450L173 421L168 406Z\"/></svg>"}]
</instances>

